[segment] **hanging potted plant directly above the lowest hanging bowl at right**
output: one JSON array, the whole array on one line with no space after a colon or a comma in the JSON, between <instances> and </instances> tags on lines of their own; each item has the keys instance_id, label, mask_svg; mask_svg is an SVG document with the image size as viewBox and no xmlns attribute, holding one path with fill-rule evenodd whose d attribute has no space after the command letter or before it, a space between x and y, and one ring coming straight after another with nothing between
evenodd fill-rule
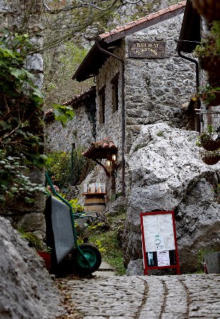
<instances>
[{"instance_id":1,"label":"hanging potted plant directly above the lowest hanging bowl at right","mask_svg":"<svg viewBox=\"0 0 220 319\"><path fill-rule=\"evenodd\" d=\"M214 139L216 132L212 125L207 126L207 130L197 137L196 145L203 147L207 151L216 151L220 148L220 139Z\"/></svg>"}]
</instances>

